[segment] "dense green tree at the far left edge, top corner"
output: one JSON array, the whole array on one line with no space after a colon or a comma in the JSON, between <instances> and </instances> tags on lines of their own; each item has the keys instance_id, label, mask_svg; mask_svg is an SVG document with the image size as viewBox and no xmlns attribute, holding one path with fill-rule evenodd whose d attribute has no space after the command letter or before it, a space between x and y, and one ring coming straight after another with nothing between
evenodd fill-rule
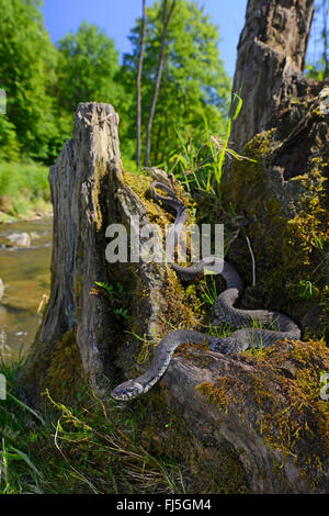
<instances>
[{"instance_id":1,"label":"dense green tree at the far left edge, top corner","mask_svg":"<svg viewBox=\"0 0 329 516\"><path fill-rule=\"evenodd\" d=\"M58 153L55 116L56 48L43 25L39 0L0 0L0 85L7 92L1 115L2 157L14 150L43 160Z\"/></svg>"}]
</instances>

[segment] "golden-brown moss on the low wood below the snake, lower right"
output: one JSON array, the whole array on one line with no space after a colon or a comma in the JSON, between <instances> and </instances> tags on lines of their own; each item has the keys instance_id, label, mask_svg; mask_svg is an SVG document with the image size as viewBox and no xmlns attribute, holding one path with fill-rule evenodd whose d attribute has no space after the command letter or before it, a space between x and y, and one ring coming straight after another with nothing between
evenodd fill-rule
<instances>
[{"instance_id":1,"label":"golden-brown moss on the low wood below the snake, lower right","mask_svg":"<svg viewBox=\"0 0 329 516\"><path fill-rule=\"evenodd\" d=\"M253 357L243 375L229 374L216 384L196 389L220 411L241 420L253 414L252 425L265 444L294 457L299 471L316 486L329 458L329 406L320 399L320 375L329 371L329 349L324 341L281 341ZM248 404L257 407L257 417ZM251 414L250 413L250 414Z\"/></svg>"}]
</instances>

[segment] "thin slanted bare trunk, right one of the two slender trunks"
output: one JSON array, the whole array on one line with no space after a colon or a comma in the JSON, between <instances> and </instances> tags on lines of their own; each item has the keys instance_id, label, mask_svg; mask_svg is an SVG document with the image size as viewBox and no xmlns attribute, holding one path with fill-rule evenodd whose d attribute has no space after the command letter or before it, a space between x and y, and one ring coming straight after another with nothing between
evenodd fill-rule
<instances>
[{"instance_id":1,"label":"thin slanted bare trunk, right one of the two slender trunks","mask_svg":"<svg viewBox=\"0 0 329 516\"><path fill-rule=\"evenodd\" d=\"M161 36L161 48L160 48L160 56L159 56L159 66L156 77L156 85L154 91L154 98L149 111L149 117L147 123L147 132L146 132L146 150L145 150L145 166L149 166L149 156L150 156L150 148L151 148L151 131L152 131L152 122L156 113L157 100L160 89L160 82L162 77L163 64L164 64L164 55L166 55L166 43L167 43L167 33L168 33L168 25L171 20L173 9L175 5L175 0L172 0L170 5L169 12L167 14L167 0L163 0L163 9L162 9L162 22L163 22L163 30Z\"/></svg>"}]
</instances>

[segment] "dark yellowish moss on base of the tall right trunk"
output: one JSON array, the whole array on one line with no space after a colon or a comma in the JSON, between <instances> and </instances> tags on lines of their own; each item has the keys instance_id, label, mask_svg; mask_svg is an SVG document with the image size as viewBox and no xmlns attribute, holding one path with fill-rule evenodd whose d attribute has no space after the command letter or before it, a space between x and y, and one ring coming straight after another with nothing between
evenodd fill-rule
<instances>
[{"instance_id":1,"label":"dark yellowish moss on base of the tall right trunk","mask_svg":"<svg viewBox=\"0 0 329 516\"><path fill-rule=\"evenodd\" d=\"M316 338L328 339L328 149L322 148L320 155L310 157L300 175L286 181L285 188L272 186L270 176L274 173L272 162L276 159L279 134L274 128L257 135L241 153L257 162L235 161L224 176L224 210L219 218L230 227L234 206L236 214L243 214L250 221L247 233L256 258L257 285L247 289L246 304L250 309L271 306L290 314L299 324L305 317L309 321L307 314L320 306L321 314L304 329ZM229 249L228 260L250 285L251 257L242 233ZM317 293L305 303L296 302L296 285L303 283L314 285L313 292Z\"/></svg>"}]
</instances>

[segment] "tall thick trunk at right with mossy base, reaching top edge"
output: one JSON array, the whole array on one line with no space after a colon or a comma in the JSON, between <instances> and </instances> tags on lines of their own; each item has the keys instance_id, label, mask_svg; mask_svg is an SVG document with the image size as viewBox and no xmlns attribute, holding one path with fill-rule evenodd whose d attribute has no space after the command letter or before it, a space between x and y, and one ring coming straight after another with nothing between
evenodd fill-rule
<instances>
[{"instance_id":1,"label":"tall thick trunk at right with mossy base, reaching top edge","mask_svg":"<svg viewBox=\"0 0 329 516\"><path fill-rule=\"evenodd\" d=\"M249 0L232 88L243 104L230 141L254 161L231 160L220 187L225 211L232 205L250 223L257 288L246 304L286 312L304 335L328 338L329 81L303 75L313 13L313 0ZM242 239L229 259L251 284Z\"/></svg>"}]
</instances>

